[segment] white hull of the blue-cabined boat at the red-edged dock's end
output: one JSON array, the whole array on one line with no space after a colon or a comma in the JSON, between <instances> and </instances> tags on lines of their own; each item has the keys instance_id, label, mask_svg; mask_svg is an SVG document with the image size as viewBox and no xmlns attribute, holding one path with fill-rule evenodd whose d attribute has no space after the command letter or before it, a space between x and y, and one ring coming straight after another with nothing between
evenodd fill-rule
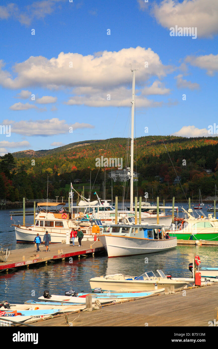
<instances>
[{"instance_id":1,"label":"white hull of the blue-cabined boat at the red-edged dock's end","mask_svg":"<svg viewBox=\"0 0 218 349\"><path fill-rule=\"evenodd\" d=\"M114 235L99 235L98 238L109 258L162 252L177 246L176 238L153 240Z\"/></svg>"}]
</instances>

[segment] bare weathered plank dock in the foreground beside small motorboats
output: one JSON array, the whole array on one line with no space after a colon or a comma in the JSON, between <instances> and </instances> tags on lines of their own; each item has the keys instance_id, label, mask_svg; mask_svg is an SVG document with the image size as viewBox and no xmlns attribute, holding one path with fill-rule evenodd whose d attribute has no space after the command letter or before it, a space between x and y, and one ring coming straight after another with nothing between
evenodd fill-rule
<instances>
[{"instance_id":1,"label":"bare weathered plank dock in the foreground beside small motorboats","mask_svg":"<svg viewBox=\"0 0 218 349\"><path fill-rule=\"evenodd\" d=\"M121 304L103 305L92 312L80 311L54 319L34 322L34 326L203 326L214 319L218 284L191 288L175 294L157 294ZM79 316L78 316L79 315ZM211 326L211 325L210 325Z\"/></svg>"}]
</instances>

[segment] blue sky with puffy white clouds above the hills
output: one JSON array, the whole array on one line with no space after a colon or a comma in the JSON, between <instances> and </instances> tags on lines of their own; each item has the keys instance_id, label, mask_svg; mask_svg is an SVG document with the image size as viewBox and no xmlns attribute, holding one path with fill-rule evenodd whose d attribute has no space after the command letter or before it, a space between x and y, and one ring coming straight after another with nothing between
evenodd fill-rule
<instances>
[{"instance_id":1,"label":"blue sky with puffy white clouds above the hills","mask_svg":"<svg viewBox=\"0 0 218 349\"><path fill-rule=\"evenodd\" d=\"M0 31L0 155L128 136L129 63L137 137L218 124L217 0L1 1Z\"/></svg>"}]
</instances>

